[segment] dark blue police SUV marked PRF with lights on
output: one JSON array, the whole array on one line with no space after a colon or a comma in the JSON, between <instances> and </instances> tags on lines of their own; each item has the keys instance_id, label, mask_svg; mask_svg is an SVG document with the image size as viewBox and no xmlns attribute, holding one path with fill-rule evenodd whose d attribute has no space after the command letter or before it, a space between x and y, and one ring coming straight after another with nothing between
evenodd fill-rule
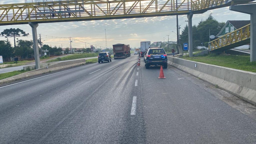
<instances>
[{"instance_id":1,"label":"dark blue police SUV marked PRF with lights on","mask_svg":"<svg viewBox=\"0 0 256 144\"><path fill-rule=\"evenodd\" d=\"M146 69L151 65L162 65L164 68L167 68L167 54L161 47L149 47L144 57L144 61Z\"/></svg>"}]
</instances>

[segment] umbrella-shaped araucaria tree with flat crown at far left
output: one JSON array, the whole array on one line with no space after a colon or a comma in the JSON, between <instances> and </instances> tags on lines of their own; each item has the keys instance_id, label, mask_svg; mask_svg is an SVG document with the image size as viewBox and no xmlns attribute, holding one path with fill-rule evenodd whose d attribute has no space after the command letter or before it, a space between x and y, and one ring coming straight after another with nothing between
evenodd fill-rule
<instances>
[{"instance_id":1,"label":"umbrella-shaped araucaria tree with flat crown at far left","mask_svg":"<svg viewBox=\"0 0 256 144\"><path fill-rule=\"evenodd\" d=\"M1 35L4 36L5 38L8 37L13 37L14 38L14 48L16 47L16 42L15 42L15 37L20 37L20 36L28 36L29 33L24 32L22 29L15 29L15 28L10 28L10 29L5 29L3 32L1 32ZM18 38L16 38L18 40Z\"/></svg>"}]
</instances>

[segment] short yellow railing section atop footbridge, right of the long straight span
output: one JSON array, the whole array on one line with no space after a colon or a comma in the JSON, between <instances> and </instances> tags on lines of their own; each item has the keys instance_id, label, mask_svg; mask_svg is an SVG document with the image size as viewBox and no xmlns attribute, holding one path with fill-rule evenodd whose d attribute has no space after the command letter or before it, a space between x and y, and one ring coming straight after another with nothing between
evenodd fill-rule
<instances>
[{"instance_id":1,"label":"short yellow railing section atop footbridge, right of the long straight span","mask_svg":"<svg viewBox=\"0 0 256 144\"><path fill-rule=\"evenodd\" d=\"M191 0L191 10L197 11L197 10L206 9L212 6L226 4L225 1L226 0L197 0L197 1Z\"/></svg>"}]
</instances>

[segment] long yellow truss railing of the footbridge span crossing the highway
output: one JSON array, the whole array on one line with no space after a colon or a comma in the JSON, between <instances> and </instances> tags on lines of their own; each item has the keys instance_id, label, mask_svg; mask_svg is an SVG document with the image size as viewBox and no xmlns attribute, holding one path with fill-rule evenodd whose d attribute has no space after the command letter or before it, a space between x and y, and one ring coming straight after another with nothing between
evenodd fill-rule
<instances>
[{"instance_id":1,"label":"long yellow truss railing of the footbridge span crossing the highway","mask_svg":"<svg viewBox=\"0 0 256 144\"><path fill-rule=\"evenodd\" d=\"M0 5L0 25L187 14L190 0L69 0Z\"/></svg>"}]
</instances>

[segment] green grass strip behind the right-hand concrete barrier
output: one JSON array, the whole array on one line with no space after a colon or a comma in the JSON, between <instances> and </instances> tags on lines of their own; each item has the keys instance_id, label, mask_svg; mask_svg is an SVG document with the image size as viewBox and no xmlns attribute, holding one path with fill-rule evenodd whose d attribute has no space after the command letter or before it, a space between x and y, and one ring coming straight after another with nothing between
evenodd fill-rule
<instances>
[{"instance_id":1,"label":"green grass strip behind the right-hand concrete barrier","mask_svg":"<svg viewBox=\"0 0 256 144\"><path fill-rule=\"evenodd\" d=\"M215 55L198 57L182 57L183 59L197 61L201 63L234 68L239 70L251 71L256 73L256 62L250 62L250 56L236 55Z\"/></svg>"}]
</instances>

